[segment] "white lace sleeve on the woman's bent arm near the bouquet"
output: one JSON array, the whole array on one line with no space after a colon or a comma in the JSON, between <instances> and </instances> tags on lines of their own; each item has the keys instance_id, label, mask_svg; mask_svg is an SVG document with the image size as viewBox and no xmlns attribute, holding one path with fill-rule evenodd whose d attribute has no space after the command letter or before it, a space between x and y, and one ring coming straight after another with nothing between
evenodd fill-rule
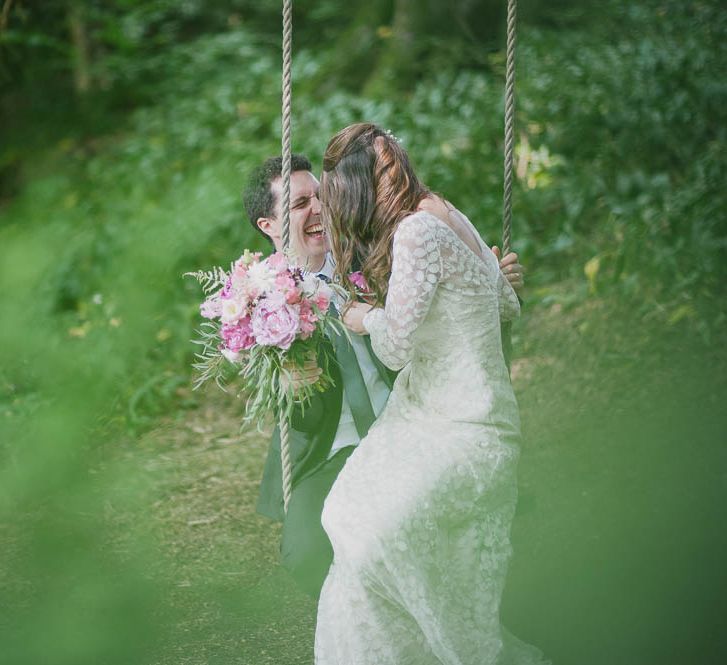
<instances>
[{"instance_id":1,"label":"white lace sleeve on the woman's bent arm near the bouquet","mask_svg":"<svg viewBox=\"0 0 727 665\"><path fill-rule=\"evenodd\" d=\"M390 369L411 360L412 335L429 311L441 276L435 229L426 216L408 217L394 234L386 307L372 309L363 320L374 353Z\"/></svg>"}]
</instances>

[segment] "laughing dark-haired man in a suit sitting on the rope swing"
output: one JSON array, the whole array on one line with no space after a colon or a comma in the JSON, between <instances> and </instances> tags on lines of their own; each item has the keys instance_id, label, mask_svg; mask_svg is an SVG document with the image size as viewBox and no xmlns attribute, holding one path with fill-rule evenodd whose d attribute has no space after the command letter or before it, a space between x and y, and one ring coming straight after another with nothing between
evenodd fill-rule
<instances>
[{"instance_id":1,"label":"laughing dark-haired man in a suit sitting on the rope swing","mask_svg":"<svg viewBox=\"0 0 727 665\"><path fill-rule=\"evenodd\" d=\"M318 180L310 161L293 155L290 176L290 242L298 261L322 279L333 277L334 265L321 224ZM243 193L253 228L282 250L282 160L266 160L250 176ZM496 248L493 248L496 250ZM500 266L512 286L523 285L516 254ZM305 411L294 409L290 427L292 490L283 509L280 433L273 432L260 485L257 511L283 522L280 545L283 566L309 595L317 598L333 550L321 526L323 502L348 456L381 413L393 385L389 371L371 351L366 335L339 335L331 341L338 361L329 365L334 385L316 393ZM299 375L311 381L315 370Z\"/></svg>"}]
</instances>

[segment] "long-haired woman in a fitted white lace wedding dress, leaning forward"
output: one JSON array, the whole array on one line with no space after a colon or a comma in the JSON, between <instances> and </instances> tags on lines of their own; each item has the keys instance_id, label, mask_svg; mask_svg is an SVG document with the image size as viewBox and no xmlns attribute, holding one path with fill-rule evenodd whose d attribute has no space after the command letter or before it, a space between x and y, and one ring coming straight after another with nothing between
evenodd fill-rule
<instances>
[{"instance_id":1,"label":"long-haired woman in a fitted white lace wedding dress, leaning forward","mask_svg":"<svg viewBox=\"0 0 727 665\"><path fill-rule=\"evenodd\" d=\"M334 561L315 662L542 665L499 618L519 437L500 321L517 297L469 220L376 125L331 139L320 199L338 277L353 293L361 267L376 303L344 322L401 371L325 502Z\"/></svg>"}]
</instances>

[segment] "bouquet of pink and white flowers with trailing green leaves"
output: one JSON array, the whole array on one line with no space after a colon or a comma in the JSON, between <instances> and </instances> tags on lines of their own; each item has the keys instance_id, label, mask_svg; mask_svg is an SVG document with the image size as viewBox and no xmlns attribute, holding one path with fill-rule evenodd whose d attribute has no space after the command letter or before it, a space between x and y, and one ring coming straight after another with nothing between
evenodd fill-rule
<instances>
[{"instance_id":1,"label":"bouquet of pink and white flowers with trailing green leaves","mask_svg":"<svg viewBox=\"0 0 727 665\"><path fill-rule=\"evenodd\" d=\"M327 332L344 332L340 320L329 313L331 286L291 266L280 252L261 257L245 250L229 272L215 268L186 273L206 294L200 312L207 321L194 340L202 347L193 365L199 371L195 388L214 379L224 389L228 361L234 363L240 367L242 392L249 395L245 419L258 422L270 411L289 416L294 399L305 403L314 390L330 385L327 357L318 381L297 393L291 370L327 348L322 346Z\"/></svg>"}]
</instances>

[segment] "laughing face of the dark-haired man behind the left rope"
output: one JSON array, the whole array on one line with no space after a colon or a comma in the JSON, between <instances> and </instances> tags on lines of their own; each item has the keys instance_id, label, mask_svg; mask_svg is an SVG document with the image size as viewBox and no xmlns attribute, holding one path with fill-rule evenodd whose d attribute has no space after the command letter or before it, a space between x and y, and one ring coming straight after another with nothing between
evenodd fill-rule
<instances>
[{"instance_id":1,"label":"laughing face of the dark-haired man behind the left rope","mask_svg":"<svg viewBox=\"0 0 727 665\"><path fill-rule=\"evenodd\" d=\"M290 242L296 255L316 265L328 251L328 238L321 222L319 183L310 171L294 171L290 175ZM283 179L270 185L275 199L273 217L260 228L270 236L277 250L283 246ZM258 222L260 224L260 222Z\"/></svg>"}]
</instances>

